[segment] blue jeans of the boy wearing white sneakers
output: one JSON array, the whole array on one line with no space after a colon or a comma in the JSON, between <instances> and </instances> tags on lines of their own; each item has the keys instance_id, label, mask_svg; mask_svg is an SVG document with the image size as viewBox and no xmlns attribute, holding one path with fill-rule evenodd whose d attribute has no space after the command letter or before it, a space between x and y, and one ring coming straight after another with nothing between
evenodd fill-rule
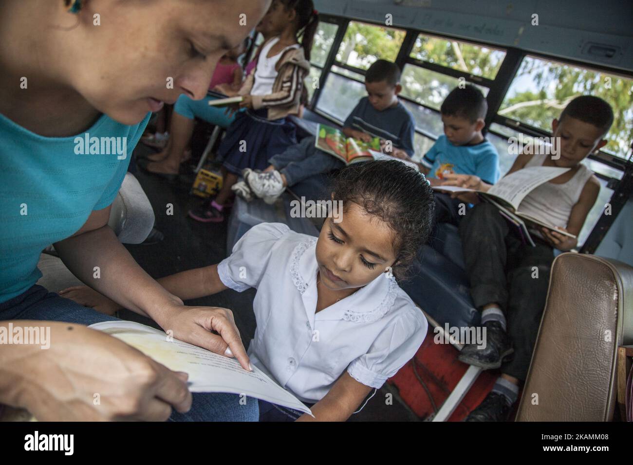
<instances>
[{"instance_id":1,"label":"blue jeans of the boy wearing white sneakers","mask_svg":"<svg viewBox=\"0 0 633 465\"><path fill-rule=\"evenodd\" d=\"M272 156L268 163L285 176L289 187L312 175L327 173L345 166L341 160L318 150L314 137L305 137L299 144Z\"/></svg>"}]
</instances>

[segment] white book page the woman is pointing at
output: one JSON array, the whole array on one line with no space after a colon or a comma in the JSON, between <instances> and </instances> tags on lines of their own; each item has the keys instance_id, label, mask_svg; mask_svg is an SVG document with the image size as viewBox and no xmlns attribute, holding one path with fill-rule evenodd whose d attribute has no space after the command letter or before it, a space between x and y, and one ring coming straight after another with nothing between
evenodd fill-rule
<instances>
[{"instance_id":1,"label":"white book page the woman is pointing at","mask_svg":"<svg viewBox=\"0 0 633 465\"><path fill-rule=\"evenodd\" d=\"M191 392L244 394L312 415L301 400L256 366L246 371L237 359L223 357L134 321L104 321L89 328L114 336L174 371L189 373Z\"/></svg>"}]
</instances>

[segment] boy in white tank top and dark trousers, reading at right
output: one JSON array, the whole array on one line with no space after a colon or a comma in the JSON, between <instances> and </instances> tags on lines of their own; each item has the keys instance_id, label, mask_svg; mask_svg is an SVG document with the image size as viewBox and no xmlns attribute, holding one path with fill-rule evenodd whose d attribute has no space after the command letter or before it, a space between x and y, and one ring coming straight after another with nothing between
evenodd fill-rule
<instances>
[{"instance_id":1,"label":"boy in white tank top and dark trousers, reading at right","mask_svg":"<svg viewBox=\"0 0 633 465\"><path fill-rule=\"evenodd\" d=\"M509 171L515 173L531 166L568 168L531 190L518 210L570 235L534 226L530 233L536 247L522 244L511 234L498 208L487 202L477 204L461 221L470 294L482 311L487 344L484 349L465 345L460 360L485 369L501 367L502 373L491 394L467 421L505 421L517 400L518 385L527 375L545 306L553 249L569 251L577 245L576 237L598 197L598 179L582 160L605 146L604 136L611 123L613 111L608 103L598 97L576 97L552 122L553 136L560 147L558 153L520 154ZM447 185L484 191L491 188L473 175L445 178ZM466 200L478 202L476 197L469 194Z\"/></svg>"}]
</instances>

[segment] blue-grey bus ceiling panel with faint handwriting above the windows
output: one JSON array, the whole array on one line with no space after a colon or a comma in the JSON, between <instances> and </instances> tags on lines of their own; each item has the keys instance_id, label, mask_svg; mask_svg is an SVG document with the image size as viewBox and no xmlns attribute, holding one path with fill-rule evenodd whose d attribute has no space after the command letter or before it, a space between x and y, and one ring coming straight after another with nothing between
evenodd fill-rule
<instances>
[{"instance_id":1,"label":"blue-grey bus ceiling panel with faint handwriting above the windows","mask_svg":"<svg viewBox=\"0 0 633 465\"><path fill-rule=\"evenodd\" d=\"M390 20L394 27L633 71L630 0L315 0L315 5L325 14Z\"/></svg>"}]
</instances>

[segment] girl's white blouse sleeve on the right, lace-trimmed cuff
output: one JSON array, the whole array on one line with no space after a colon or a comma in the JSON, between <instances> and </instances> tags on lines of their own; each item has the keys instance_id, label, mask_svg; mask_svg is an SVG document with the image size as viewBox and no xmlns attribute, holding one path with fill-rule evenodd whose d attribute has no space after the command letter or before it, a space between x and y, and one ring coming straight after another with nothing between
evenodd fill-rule
<instances>
[{"instance_id":1,"label":"girl's white blouse sleeve on the right, lace-trimmed cuff","mask_svg":"<svg viewBox=\"0 0 633 465\"><path fill-rule=\"evenodd\" d=\"M382 387L387 378L415 356L427 335L427 327L422 311L413 307L380 332L367 354L349 364L349 376L365 386Z\"/></svg>"}]
</instances>

